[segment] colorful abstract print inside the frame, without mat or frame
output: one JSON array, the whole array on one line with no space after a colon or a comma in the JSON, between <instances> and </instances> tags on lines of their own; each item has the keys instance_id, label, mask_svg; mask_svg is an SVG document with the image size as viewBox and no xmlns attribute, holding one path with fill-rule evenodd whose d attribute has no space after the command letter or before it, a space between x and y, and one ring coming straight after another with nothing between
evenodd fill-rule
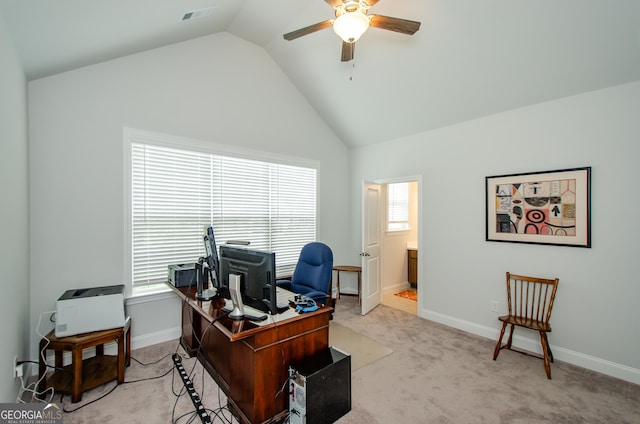
<instances>
[{"instance_id":1,"label":"colorful abstract print inside the frame, without mat or frame","mask_svg":"<svg viewBox=\"0 0 640 424\"><path fill-rule=\"evenodd\" d=\"M576 180L496 186L496 232L576 235Z\"/></svg>"}]
</instances>

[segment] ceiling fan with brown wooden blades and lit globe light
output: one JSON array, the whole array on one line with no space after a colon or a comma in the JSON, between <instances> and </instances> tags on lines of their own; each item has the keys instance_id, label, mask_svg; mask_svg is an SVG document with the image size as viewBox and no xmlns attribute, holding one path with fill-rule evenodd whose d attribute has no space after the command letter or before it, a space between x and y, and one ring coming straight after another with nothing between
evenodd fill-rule
<instances>
[{"instance_id":1,"label":"ceiling fan with brown wooden blades and lit globe light","mask_svg":"<svg viewBox=\"0 0 640 424\"><path fill-rule=\"evenodd\" d=\"M355 43L369 28L386 29L402 34L413 35L420 29L420 22L392 18L382 15L367 15L367 11L379 0L325 0L335 10L335 19L328 19L284 34L291 41L303 35L333 26L333 31L342 39L342 61L353 59Z\"/></svg>"}]
</instances>

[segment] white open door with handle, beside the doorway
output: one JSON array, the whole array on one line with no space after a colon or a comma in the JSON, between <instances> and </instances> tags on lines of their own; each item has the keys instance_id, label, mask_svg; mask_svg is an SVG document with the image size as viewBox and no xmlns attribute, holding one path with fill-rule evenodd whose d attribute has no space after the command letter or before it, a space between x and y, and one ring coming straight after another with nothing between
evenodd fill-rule
<instances>
[{"instance_id":1,"label":"white open door with handle, beside the doorway","mask_svg":"<svg viewBox=\"0 0 640 424\"><path fill-rule=\"evenodd\" d=\"M362 216L362 315L382 303L380 253L382 187L364 183Z\"/></svg>"}]
</instances>

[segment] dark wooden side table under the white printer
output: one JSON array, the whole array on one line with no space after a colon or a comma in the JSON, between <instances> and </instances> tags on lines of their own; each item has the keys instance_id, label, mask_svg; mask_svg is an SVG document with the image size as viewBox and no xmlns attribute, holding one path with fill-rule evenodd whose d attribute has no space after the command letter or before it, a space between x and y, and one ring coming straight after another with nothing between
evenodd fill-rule
<instances>
[{"instance_id":1,"label":"dark wooden side table under the white printer","mask_svg":"<svg viewBox=\"0 0 640 424\"><path fill-rule=\"evenodd\" d=\"M56 337L51 330L40 340L40 383L38 391L43 393L47 387L53 387L58 393L71 395L71 402L80 402L82 393L94 389L112 380L124 383L124 369L131 362L131 318L127 318L124 327L111 330L94 331L75 336ZM48 339L48 341L47 341ZM104 344L118 343L118 355L105 355ZM95 347L96 354L82 360L85 349ZM47 366L43 357L46 351L55 351L56 371L47 379L43 376ZM71 352L71 364L64 366L62 354Z\"/></svg>"}]
</instances>

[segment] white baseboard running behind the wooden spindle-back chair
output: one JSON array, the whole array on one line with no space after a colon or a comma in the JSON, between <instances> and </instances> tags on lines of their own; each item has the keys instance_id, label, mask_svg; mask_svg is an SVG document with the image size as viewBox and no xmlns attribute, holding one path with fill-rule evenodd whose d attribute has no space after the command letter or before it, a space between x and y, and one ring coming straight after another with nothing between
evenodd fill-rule
<instances>
[{"instance_id":1,"label":"white baseboard running behind the wooden spindle-back chair","mask_svg":"<svg viewBox=\"0 0 640 424\"><path fill-rule=\"evenodd\" d=\"M497 328L478 325L473 322L461 320L459 318L451 317L427 309L422 309L419 316L430 321L435 321L437 323L446 325L448 327L457 328L458 330L466 331L467 333L494 340L495 342L497 342L498 336L500 335L500 330ZM539 339L534 340L514 334L513 346L519 349L527 350L529 352L538 354L542 353ZM619 378L630 383L640 384L640 369L628 367L626 365L611 362L602 358L597 358L595 356L586 355L584 353L576 352L560 346L551 345L551 350L553 351L554 359L586 368L591 371L606 374L611 377ZM493 354L493 352L491 352L491 354Z\"/></svg>"}]
</instances>

